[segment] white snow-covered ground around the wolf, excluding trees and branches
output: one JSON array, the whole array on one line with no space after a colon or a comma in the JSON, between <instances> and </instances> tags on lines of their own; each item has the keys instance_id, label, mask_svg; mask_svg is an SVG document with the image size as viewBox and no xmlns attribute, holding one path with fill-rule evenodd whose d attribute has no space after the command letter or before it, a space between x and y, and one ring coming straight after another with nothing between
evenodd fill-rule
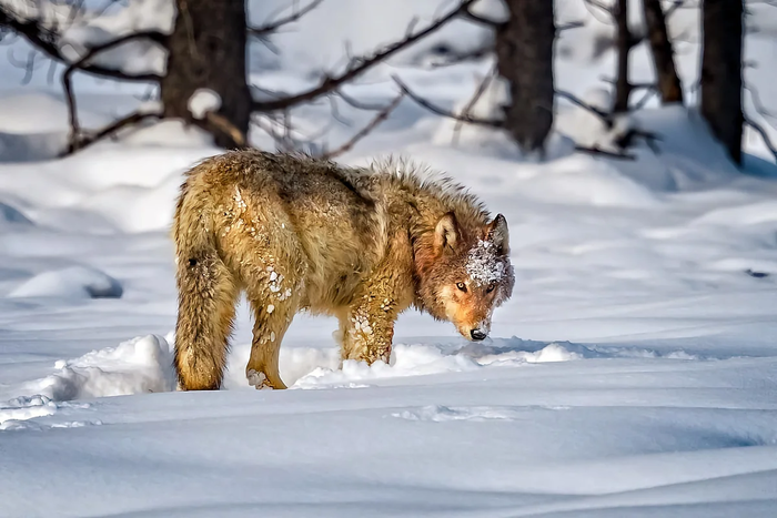
<instances>
[{"instance_id":1,"label":"white snow-covered ground around the wolf, excluding trees and branches","mask_svg":"<svg viewBox=\"0 0 777 518\"><path fill-rule=\"evenodd\" d=\"M564 20L585 16L559 3ZM777 10L751 3L748 59L761 67L746 74L777 109ZM414 2L352 12L360 23L325 4L314 13L331 31L314 19L319 30L289 45L309 61L258 81L302 88L296 67L326 62L344 28L369 48L402 32ZM695 16L676 23L693 29ZM607 30L595 23L558 45L562 88L588 99L614 63L587 54ZM679 52L693 83L689 34ZM647 58L636 49L638 78ZM387 100L395 72L462 104L487 69L397 60L350 92ZM21 87L23 71L0 64L0 516L775 516L777 166L753 135L739 172L695 112L652 108L635 120L662 136L660 153L609 161L569 154L568 138L602 132L562 104L552 160L536 163L482 130L454 145L453 123L403 101L343 161L405 154L506 215L516 287L491 341L408 312L390 365L341 370L336 324L299 315L281 351L291 389L253 390L242 305L225 389L179 393L168 226L182 171L219 150L165 122L41 160L67 131L44 72ZM87 126L144 90L79 84ZM342 113L353 128L371 116ZM331 124L329 105L297 120L312 133ZM332 142L353 128L333 124Z\"/></svg>"}]
</instances>

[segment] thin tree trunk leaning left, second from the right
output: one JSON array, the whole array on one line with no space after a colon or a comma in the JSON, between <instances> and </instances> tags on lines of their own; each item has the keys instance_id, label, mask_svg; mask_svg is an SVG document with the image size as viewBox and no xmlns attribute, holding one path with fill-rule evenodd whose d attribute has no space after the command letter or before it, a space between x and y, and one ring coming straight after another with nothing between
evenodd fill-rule
<instances>
[{"instance_id":1,"label":"thin tree trunk leaning left, second from the right","mask_svg":"<svg viewBox=\"0 0 777 518\"><path fill-rule=\"evenodd\" d=\"M683 85L677 75L675 51L666 30L666 18L660 7L660 0L643 0L643 8L662 104L683 103Z\"/></svg>"}]
</instances>

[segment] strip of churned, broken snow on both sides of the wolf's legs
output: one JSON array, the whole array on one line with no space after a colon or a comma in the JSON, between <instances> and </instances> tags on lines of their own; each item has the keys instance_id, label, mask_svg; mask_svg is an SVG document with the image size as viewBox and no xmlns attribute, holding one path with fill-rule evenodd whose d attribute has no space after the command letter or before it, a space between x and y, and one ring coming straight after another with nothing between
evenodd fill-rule
<instances>
[{"instance_id":1,"label":"strip of churned, broken snow on both sides of the wolf's legs","mask_svg":"<svg viewBox=\"0 0 777 518\"><path fill-rule=\"evenodd\" d=\"M292 388L357 388L365 382L384 378L423 376L442 373L476 370L488 366L521 366L527 363L567 362L597 357L597 353L573 344L544 344L508 341L506 347L467 345L465 347L423 344L396 344L391 365L377 362L345 360L340 368L336 347L286 347L281 349L281 376ZM29 419L56 412L50 402L171 392L176 388L173 367L173 337L139 336L119 344L92 351L75 359L61 359L57 372L27 383L22 394L30 402L4 409L9 419ZM523 351L534 349L534 351ZM249 347L239 347L230 357L224 389L251 388L244 368ZM42 403L40 403L42 402ZM21 408L21 409L20 409ZM2 415L2 414L0 414Z\"/></svg>"}]
</instances>

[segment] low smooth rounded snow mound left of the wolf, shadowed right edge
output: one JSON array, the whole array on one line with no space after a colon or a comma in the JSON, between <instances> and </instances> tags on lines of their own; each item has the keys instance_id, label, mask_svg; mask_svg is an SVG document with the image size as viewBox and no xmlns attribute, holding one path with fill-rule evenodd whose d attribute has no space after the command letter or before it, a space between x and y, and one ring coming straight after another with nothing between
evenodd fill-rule
<instances>
[{"instance_id":1,"label":"low smooth rounded snow mound left of the wolf, shadowed right edge","mask_svg":"<svg viewBox=\"0 0 777 518\"><path fill-rule=\"evenodd\" d=\"M9 297L120 298L121 284L87 266L43 272L13 290Z\"/></svg>"}]
</instances>

